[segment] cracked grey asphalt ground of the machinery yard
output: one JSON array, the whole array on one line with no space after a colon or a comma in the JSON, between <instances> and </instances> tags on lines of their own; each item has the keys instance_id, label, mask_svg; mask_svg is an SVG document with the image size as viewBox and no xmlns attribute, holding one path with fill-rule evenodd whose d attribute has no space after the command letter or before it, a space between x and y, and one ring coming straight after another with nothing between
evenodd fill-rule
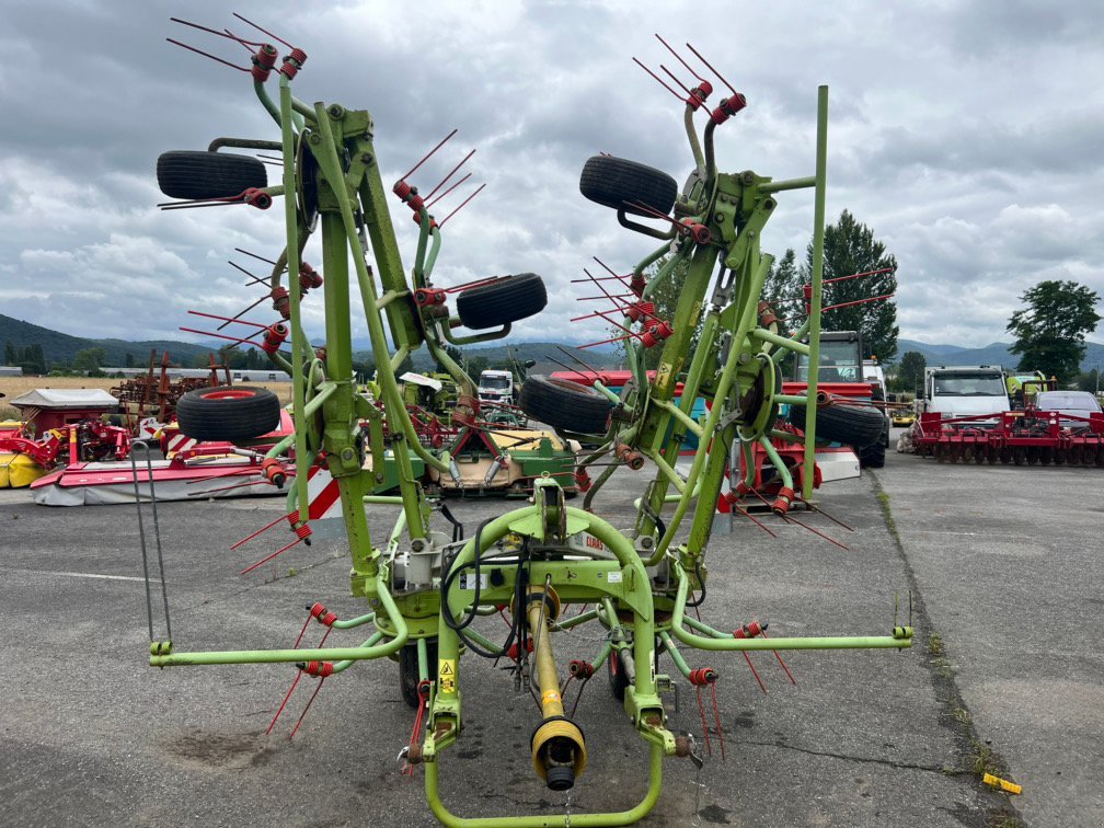
<instances>
[{"instance_id":1,"label":"cracked grey asphalt ground of the machinery yard","mask_svg":"<svg viewBox=\"0 0 1104 828\"><path fill-rule=\"evenodd\" d=\"M631 478L622 469L606 490L625 516ZM719 519L713 618L724 628L768 619L774 636L881 629L892 618L894 591L904 623L911 587L916 645L789 652L796 687L771 654L752 654L765 696L742 658L688 654L692 667L721 675L725 760L714 733L700 778L689 762L669 763L662 795L641 824L1100 824L1104 664L1095 645L1070 639L1104 635L1094 528L1104 478L1049 467L1025 486L1013 466L948 468L890 453L884 469L821 495L854 533L820 516L799 519L850 551L773 516L762 519L778 540L739 516L729 533L728 519ZM247 555L227 546L280 508L272 499L162 505L169 601L182 646L217 647L231 633L248 646L290 645L304 606L315 601L341 617L360 612L347 596L347 552L332 541L300 545L236 576ZM498 509L496 501L465 501L454 511L474 522ZM296 672L291 665L161 672L146 664L129 508L46 510L9 491L0 495L0 520L4 821L363 825L372 813L372 825L434 824L423 803L424 768L408 781L395 758L414 715L394 664L354 665L327 680L289 741L309 697L300 687L266 736ZM378 517L372 521L385 531ZM743 552L752 543L754 556ZM496 636L496 624L505 628L497 617L480 624ZM321 633L312 626L307 635ZM593 658L601 646L590 631L558 641L564 660ZM667 656L660 668L673 671ZM442 757L444 793L459 813L562 817L570 802L577 818L637 800L646 751L620 721L605 676L594 677L578 705L593 776L570 800L527 767L532 702L510 692L511 683L507 672L480 670L465 684L473 711L465 737ZM680 692L678 712L665 697L669 725L697 734L701 745L693 689ZM503 707L512 715L501 715ZM1022 795L984 786L980 763L1022 785Z\"/></svg>"}]
</instances>

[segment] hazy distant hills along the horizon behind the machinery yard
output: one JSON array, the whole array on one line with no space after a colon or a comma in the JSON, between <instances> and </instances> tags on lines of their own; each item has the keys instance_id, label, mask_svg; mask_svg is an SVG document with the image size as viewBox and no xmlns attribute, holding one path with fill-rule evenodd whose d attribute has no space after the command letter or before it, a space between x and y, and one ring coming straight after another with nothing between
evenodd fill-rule
<instances>
[{"instance_id":1,"label":"hazy distant hills along the horizon behind the machinery yard","mask_svg":"<svg viewBox=\"0 0 1104 828\"><path fill-rule=\"evenodd\" d=\"M7 342L11 342L18 348L40 344L49 362L63 363L72 362L77 351L87 348L103 348L106 365L124 364L128 353L136 364L144 365L149 360L151 350L156 350L158 354L168 351L173 362L191 364L197 355L206 355L211 351L217 350L220 344L217 342L197 344L169 339L128 342L121 339L73 337L0 314L0 347ZM1085 358L1081 362L1081 370L1089 371L1097 365L1104 367L1104 342L1086 342L1085 344ZM367 338L354 339L352 346L353 350L367 352L364 355L370 354L371 346ZM576 358L594 368L611 368L620 361L615 346L599 346L580 351L573 344L558 342L510 342L509 346L492 344L484 348L468 348L465 349L465 353L469 359L485 357L489 362L500 362L510 359L509 352L512 352L513 359L519 362L534 360L537 370L544 372L562 370L555 360L577 368L574 360L559 350L560 347L571 351ZM924 355L930 365L1004 365L1005 368L1015 368L1019 358L1008 352L1010 347L1011 343L1008 342L992 342L984 348L964 348L954 344L930 344L914 339L899 339L898 358L900 359L901 354L906 351L917 351ZM433 361L424 350L415 354L414 367L416 370L427 370L432 363Z\"/></svg>"}]
</instances>

